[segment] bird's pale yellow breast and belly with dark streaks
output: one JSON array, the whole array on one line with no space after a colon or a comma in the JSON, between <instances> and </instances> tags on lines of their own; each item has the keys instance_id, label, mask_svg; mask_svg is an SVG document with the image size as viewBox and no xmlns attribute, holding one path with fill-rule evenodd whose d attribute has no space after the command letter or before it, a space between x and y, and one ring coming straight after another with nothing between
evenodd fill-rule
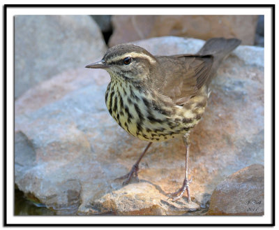
<instances>
[{"instance_id":1,"label":"bird's pale yellow breast and belly with dark streaks","mask_svg":"<svg viewBox=\"0 0 279 230\"><path fill-rule=\"evenodd\" d=\"M148 94L131 93L125 88L124 91L114 85L107 88L107 109L119 126L141 140L167 141L186 134L198 122L190 119L193 114L179 106L154 106Z\"/></svg>"}]
</instances>

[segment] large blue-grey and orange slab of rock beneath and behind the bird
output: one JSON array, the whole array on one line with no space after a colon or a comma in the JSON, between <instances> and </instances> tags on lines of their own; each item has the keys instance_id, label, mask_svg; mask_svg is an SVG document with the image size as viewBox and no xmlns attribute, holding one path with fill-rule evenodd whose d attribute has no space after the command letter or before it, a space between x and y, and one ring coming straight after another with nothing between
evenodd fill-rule
<instances>
[{"instance_id":1,"label":"large blue-grey and orange slab of rock beneath and behind the bird","mask_svg":"<svg viewBox=\"0 0 279 230\"><path fill-rule=\"evenodd\" d=\"M203 43L178 37L137 42L154 55L195 53ZM110 117L105 107L108 82L103 70L75 69L41 82L15 101L20 146L15 148L15 159L20 159L15 184L24 194L66 214L193 214L208 205L228 175L264 164L263 48L237 48L212 82L209 106L190 136L193 203L186 195L175 203L166 196L184 178L185 148L179 138L151 145L140 163L140 182L122 186L114 180L128 173L146 142ZM27 150L33 156L28 161Z\"/></svg>"}]
</instances>

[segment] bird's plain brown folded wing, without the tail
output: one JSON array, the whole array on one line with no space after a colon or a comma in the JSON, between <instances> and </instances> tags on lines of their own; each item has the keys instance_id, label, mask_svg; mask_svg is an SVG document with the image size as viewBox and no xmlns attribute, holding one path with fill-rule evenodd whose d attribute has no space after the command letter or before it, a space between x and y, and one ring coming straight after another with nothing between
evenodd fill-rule
<instances>
[{"instance_id":1,"label":"bird's plain brown folded wing, without the tail","mask_svg":"<svg viewBox=\"0 0 279 230\"><path fill-rule=\"evenodd\" d=\"M199 92L213 76L211 55L174 55L156 57L161 68L160 94L169 96L176 104L185 103Z\"/></svg>"}]
</instances>

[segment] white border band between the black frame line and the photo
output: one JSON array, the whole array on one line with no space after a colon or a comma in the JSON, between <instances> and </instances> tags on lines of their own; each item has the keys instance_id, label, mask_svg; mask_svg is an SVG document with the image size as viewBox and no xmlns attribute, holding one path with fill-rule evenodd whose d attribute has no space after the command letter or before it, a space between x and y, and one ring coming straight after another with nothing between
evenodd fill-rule
<instances>
[{"instance_id":1,"label":"white border band between the black frame line and the photo","mask_svg":"<svg viewBox=\"0 0 279 230\"><path fill-rule=\"evenodd\" d=\"M13 16L14 15L265 15L264 216L112 217L14 216ZM7 8L7 224L270 224L271 223L271 8Z\"/></svg>"}]
</instances>

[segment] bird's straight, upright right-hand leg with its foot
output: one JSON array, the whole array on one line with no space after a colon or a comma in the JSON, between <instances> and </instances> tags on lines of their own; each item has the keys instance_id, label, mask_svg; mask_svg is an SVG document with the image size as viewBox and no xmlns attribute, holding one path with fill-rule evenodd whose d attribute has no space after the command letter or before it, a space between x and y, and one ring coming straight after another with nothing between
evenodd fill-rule
<instances>
[{"instance_id":1,"label":"bird's straight, upright right-hand leg with its foot","mask_svg":"<svg viewBox=\"0 0 279 230\"><path fill-rule=\"evenodd\" d=\"M188 196L188 202L191 202L191 197L190 197L190 182L192 182L192 178L190 178L190 180L188 180L188 161L189 161L189 152L190 152L190 140L189 140L189 134L185 134L183 136L183 142L185 144L186 147L186 159L185 159L185 178L183 180L183 185L182 187L171 194L167 194L169 196L169 198L172 199L172 201L176 201L179 198L181 198L181 196L183 196L183 193L186 191L187 192L187 196Z\"/></svg>"}]
</instances>

